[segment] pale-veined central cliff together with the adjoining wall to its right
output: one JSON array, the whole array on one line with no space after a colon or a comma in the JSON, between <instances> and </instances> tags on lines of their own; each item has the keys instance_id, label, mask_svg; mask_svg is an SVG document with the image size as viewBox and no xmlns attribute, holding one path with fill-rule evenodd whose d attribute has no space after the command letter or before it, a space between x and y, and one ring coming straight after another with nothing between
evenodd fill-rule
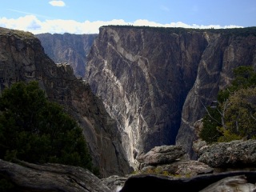
<instances>
[{"instance_id":1,"label":"pale-veined central cliff together with the adjoining wall to its right","mask_svg":"<svg viewBox=\"0 0 256 192\"><path fill-rule=\"evenodd\" d=\"M255 33L255 28L100 28L86 80L118 123L131 165L138 154L175 142L192 155L193 124L205 113L203 105L230 82L234 67L255 66Z\"/></svg>"}]
</instances>

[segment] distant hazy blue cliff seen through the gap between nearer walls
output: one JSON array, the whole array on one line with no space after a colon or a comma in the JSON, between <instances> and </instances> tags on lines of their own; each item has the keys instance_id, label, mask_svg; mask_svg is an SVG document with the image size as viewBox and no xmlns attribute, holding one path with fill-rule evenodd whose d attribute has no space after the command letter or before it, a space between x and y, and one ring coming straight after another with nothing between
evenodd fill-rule
<instances>
[{"instance_id":1,"label":"distant hazy blue cliff seen through the gap between nearer walls","mask_svg":"<svg viewBox=\"0 0 256 192\"><path fill-rule=\"evenodd\" d=\"M72 66L74 74L84 77L86 55L97 34L36 34L46 54L56 63L67 62Z\"/></svg>"}]
</instances>

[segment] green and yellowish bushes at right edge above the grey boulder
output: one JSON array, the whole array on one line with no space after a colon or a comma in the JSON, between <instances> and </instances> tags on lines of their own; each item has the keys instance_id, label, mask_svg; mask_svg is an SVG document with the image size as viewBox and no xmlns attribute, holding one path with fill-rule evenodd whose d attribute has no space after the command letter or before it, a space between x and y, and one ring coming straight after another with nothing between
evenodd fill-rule
<instances>
[{"instance_id":1,"label":"green and yellowish bushes at right edge above the grey boulder","mask_svg":"<svg viewBox=\"0 0 256 192\"><path fill-rule=\"evenodd\" d=\"M208 143L256 138L256 72L252 66L234 69L234 81L208 106L200 138Z\"/></svg>"}]
</instances>

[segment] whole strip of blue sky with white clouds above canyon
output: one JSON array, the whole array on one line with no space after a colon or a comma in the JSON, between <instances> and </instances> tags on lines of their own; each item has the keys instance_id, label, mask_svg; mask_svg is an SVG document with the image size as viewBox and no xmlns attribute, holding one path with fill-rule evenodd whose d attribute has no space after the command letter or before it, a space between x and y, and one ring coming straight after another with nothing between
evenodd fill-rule
<instances>
[{"instance_id":1,"label":"whole strip of blue sky with white clouds above canyon","mask_svg":"<svg viewBox=\"0 0 256 192\"><path fill-rule=\"evenodd\" d=\"M109 24L256 26L256 0L5 0L0 7L0 26L34 34L94 34Z\"/></svg>"}]
</instances>

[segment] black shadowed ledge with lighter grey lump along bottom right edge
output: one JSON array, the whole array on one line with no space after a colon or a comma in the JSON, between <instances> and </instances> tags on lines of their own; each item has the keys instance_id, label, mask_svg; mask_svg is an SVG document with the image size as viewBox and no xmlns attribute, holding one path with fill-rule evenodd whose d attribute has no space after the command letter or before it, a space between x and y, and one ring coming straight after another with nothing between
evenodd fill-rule
<instances>
[{"instance_id":1,"label":"black shadowed ledge with lighter grey lump along bottom right edge","mask_svg":"<svg viewBox=\"0 0 256 192\"><path fill-rule=\"evenodd\" d=\"M218 182L218 183L214 184L215 182ZM226 172L222 174L205 174L205 175L198 175L192 178L176 178L176 179L164 177L164 176L141 174L141 175L134 175L128 178L122 190L120 190L120 192L131 192L131 191L132 192L137 192L137 191L198 192L201 190L203 192L222 192L222 191L249 192L249 191L254 191L256 189L254 186L255 182L256 182L256 172L254 171L237 171L237 172ZM214 184L214 188L213 186L210 186L212 184ZM216 188L215 186L218 186L218 188Z\"/></svg>"}]
</instances>

